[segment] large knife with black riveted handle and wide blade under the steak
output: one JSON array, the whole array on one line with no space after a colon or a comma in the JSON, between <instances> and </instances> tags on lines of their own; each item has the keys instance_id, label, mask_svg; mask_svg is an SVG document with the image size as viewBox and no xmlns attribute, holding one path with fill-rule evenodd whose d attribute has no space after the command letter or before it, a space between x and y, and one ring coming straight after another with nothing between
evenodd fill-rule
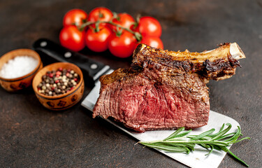
<instances>
[{"instance_id":1,"label":"large knife with black riveted handle and wide blade under the steak","mask_svg":"<svg viewBox=\"0 0 262 168\"><path fill-rule=\"evenodd\" d=\"M36 41L34 43L34 50L38 52L44 52L46 55L54 58L59 62L72 62L73 64L78 65L82 69L82 71L86 71L89 76L93 78L95 82L94 88L91 90L91 92L89 92L87 97L85 97L84 101L82 102L82 106L89 109L90 111L93 111L96 100L99 97L99 77L103 74L112 73L113 70L110 69L109 66L104 65L101 62L96 62L92 59L89 59L85 55L81 55L80 53L76 53L63 48L61 47L61 45L58 45L57 43L54 43L48 39L41 38ZM118 125L112 120L105 120L107 120L112 125L115 125L127 134L130 134L132 137L135 137L139 141L153 141L164 139L168 137L168 135L173 133L173 130L148 131L145 133L132 132L131 130L127 130L126 127ZM193 131L191 131L190 134L201 134L202 132L208 131L212 128L214 128L215 130L219 130L221 125L224 123L231 123L232 127L239 126L239 123L233 120L233 118L224 116L214 111L210 111L208 125L200 127L198 129L194 129ZM228 148L230 148L230 146ZM224 151L217 151L216 153L212 153L206 156L205 154L207 154L207 151L203 151L199 148L196 148L196 151L193 151L188 155L184 153L167 153L160 150L158 151L170 158L173 158L174 160L182 162L184 165L195 168L216 168L219 166L220 162L226 155Z\"/></svg>"}]
</instances>

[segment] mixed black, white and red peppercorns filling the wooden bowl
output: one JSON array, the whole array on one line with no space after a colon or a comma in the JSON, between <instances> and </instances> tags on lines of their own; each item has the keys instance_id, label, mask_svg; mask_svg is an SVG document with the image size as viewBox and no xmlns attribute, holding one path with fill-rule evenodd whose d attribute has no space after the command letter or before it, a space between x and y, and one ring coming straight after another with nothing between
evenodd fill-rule
<instances>
[{"instance_id":1,"label":"mixed black, white and red peppercorns filling the wooden bowl","mask_svg":"<svg viewBox=\"0 0 262 168\"><path fill-rule=\"evenodd\" d=\"M38 92L47 96L65 94L78 85L80 77L71 69L59 68L48 71L42 76L42 82L37 85Z\"/></svg>"}]
</instances>

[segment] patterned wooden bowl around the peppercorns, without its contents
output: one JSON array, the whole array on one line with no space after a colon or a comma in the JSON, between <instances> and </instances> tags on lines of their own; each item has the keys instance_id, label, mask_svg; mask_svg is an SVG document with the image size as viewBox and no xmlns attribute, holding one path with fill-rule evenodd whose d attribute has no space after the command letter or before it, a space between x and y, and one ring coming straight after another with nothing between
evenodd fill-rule
<instances>
[{"instance_id":1,"label":"patterned wooden bowl around the peppercorns, without its contents","mask_svg":"<svg viewBox=\"0 0 262 168\"><path fill-rule=\"evenodd\" d=\"M76 87L73 88L73 90L71 90L70 92L58 96L46 96L38 92L37 85L41 83L42 76L45 75L47 71L57 71L57 69L59 69L60 67L63 69L72 69L73 71L75 71L75 73L78 73L78 75L80 76L78 85L76 85ZM47 109L59 111L68 109L80 101L85 90L85 84L82 71L80 70L80 68L78 68L78 66L68 62L57 62L45 66L43 69L41 69L41 71L38 71L38 73L36 73L36 76L33 80L33 89L36 93L36 97L38 98L39 102L43 104L43 106L45 106Z\"/></svg>"}]
</instances>

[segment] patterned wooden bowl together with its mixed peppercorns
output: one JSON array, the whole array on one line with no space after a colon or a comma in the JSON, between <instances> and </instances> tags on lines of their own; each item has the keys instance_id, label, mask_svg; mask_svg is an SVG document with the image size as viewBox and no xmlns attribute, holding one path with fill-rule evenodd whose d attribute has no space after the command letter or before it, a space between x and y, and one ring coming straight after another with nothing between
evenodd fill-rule
<instances>
[{"instance_id":1,"label":"patterned wooden bowl together with its mixed peppercorns","mask_svg":"<svg viewBox=\"0 0 262 168\"><path fill-rule=\"evenodd\" d=\"M68 62L45 66L36 73L32 86L39 102L55 111L77 104L85 90L82 71Z\"/></svg>"}]
</instances>

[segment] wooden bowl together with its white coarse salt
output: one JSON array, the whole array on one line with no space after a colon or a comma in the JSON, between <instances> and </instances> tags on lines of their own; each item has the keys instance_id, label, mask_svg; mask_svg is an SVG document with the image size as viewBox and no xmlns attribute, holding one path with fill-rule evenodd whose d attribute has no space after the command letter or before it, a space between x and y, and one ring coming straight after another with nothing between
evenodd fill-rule
<instances>
[{"instance_id":1,"label":"wooden bowl together with its white coarse salt","mask_svg":"<svg viewBox=\"0 0 262 168\"><path fill-rule=\"evenodd\" d=\"M36 73L43 68L37 52L17 49L0 57L0 85L8 92L29 87Z\"/></svg>"}]
</instances>

